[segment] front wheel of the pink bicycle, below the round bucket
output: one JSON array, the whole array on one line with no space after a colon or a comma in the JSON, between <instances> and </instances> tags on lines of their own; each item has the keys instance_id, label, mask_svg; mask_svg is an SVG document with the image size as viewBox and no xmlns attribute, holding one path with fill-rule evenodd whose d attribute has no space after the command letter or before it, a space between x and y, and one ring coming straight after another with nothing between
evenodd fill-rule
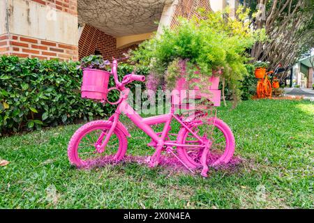
<instances>
[{"instance_id":1,"label":"front wheel of the pink bicycle, below the round bucket","mask_svg":"<svg viewBox=\"0 0 314 223\"><path fill-rule=\"evenodd\" d=\"M121 160L126 154L128 140L119 128L115 128L104 153L97 153L96 141L100 134L110 130L111 121L91 121L82 125L71 137L68 144L68 160L75 167L89 167L102 162ZM99 136L98 136L99 134ZM103 141L105 137L102 138Z\"/></svg>"}]
</instances>

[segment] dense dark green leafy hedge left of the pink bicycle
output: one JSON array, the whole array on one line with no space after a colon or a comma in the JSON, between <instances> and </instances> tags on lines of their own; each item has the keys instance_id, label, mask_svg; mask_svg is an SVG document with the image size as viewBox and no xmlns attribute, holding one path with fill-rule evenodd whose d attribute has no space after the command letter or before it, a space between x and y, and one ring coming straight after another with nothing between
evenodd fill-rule
<instances>
[{"instance_id":1,"label":"dense dark green leafy hedge left of the pink bicycle","mask_svg":"<svg viewBox=\"0 0 314 223\"><path fill-rule=\"evenodd\" d=\"M81 98L82 70L76 67L77 62L72 61L1 56L0 135L112 114L111 105ZM133 66L121 64L120 79L132 70ZM114 86L112 78L110 86ZM114 101L118 95L108 97Z\"/></svg>"}]
</instances>

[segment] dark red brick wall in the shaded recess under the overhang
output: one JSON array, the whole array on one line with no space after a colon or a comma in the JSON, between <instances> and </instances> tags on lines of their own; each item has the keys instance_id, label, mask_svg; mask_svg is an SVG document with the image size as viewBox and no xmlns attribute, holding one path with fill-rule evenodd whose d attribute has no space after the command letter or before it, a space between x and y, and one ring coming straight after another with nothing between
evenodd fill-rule
<instances>
[{"instance_id":1,"label":"dark red brick wall in the shaded recess under the overhang","mask_svg":"<svg viewBox=\"0 0 314 223\"><path fill-rule=\"evenodd\" d=\"M124 49L117 49L117 40L94 26L85 25L79 40L79 58L94 54L99 51L104 59L122 58L129 49L135 49L137 45L132 45Z\"/></svg>"}]
</instances>

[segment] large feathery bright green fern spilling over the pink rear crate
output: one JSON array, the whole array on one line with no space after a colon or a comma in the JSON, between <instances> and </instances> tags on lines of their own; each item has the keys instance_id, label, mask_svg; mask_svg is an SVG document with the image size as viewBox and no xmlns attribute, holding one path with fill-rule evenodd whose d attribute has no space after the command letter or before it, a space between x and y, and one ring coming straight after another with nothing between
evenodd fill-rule
<instances>
[{"instance_id":1,"label":"large feathery bright green fern spilling over the pink rear crate","mask_svg":"<svg viewBox=\"0 0 314 223\"><path fill-rule=\"evenodd\" d=\"M244 65L248 61L246 49L256 40L265 38L263 30L253 32L249 29L248 10L241 10L243 8L239 9L239 20L225 20L222 13L204 15L205 20L181 18L175 29L164 29L163 34L145 41L131 52L131 59L149 66L154 83L165 82L168 89L173 89L181 75L181 69L178 69L181 61L187 63L188 78L195 75L195 70L200 71L198 77L202 78L223 68L230 91L239 96L240 81L247 72Z\"/></svg>"}]
</instances>

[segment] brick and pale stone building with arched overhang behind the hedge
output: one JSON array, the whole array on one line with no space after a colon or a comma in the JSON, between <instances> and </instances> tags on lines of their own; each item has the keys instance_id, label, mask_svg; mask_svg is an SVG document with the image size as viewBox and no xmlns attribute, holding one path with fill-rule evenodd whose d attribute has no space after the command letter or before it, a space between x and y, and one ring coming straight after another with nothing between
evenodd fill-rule
<instances>
[{"instance_id":1,"label":"brick and pale stone building with arched overhang behind the hedge","mask_svg":"<svg viewBox=\"0 0 314 223\"><path fill-rule=\"evenodd\" d=\"M123 57L178 17L198 15L197 8L223 10L230 16L237 0L0 0L0 55L73 60L90 54Z\"/></svg>"}]
</instances>

